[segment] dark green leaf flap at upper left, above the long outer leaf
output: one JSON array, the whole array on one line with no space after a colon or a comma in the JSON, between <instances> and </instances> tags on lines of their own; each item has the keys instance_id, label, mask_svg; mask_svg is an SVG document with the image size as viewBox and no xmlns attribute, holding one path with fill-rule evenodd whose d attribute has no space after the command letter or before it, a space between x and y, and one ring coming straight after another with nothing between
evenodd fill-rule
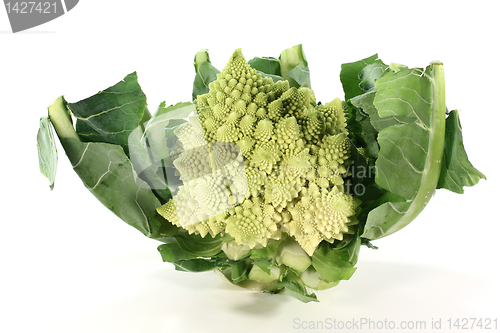
<instances>
[{"instance_id":1,"label":"dark green leaf flap at upper left, above the long outer leaf","mask_svg":"<svg viewBox=\"0 0 500 333\"><path fill-rule=\"evenodd\" d=\"M120 145L128 153L130 133L149 118L146 96L131 73L116 85L76 103L68 103L77 118L82 141Z\"/></svg>"}]
</instances>

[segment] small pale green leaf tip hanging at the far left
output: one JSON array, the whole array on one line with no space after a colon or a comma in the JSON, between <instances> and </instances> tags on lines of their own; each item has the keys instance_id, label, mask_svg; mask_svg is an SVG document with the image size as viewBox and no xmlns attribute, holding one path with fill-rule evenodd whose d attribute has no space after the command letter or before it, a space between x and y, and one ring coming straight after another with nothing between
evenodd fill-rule
<instances>
[{"instance_id":1,"label":"small pale green leaf tip hanging at the far left","mask_svg":"<svg viewBox=\"0 0 500 333\"><path fill-rule=\"evenodd\" d=\"M40 172L50 181L50 189L54 189L57 169L57 149L52 125L49 117L40 118L40 129L36 136L38 148L38 163Z\"/></svg>"}]
</instances>

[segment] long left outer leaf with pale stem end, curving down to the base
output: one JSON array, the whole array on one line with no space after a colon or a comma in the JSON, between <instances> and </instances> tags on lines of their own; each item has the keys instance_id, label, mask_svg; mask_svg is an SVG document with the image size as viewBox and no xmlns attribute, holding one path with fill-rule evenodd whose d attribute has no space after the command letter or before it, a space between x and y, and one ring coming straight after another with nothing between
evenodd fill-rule
<instances>
[{"instance_id":1,"label":"long left outer leaf with pale stem end, curving down to the base","mask_svg":"<svg viewBox=\"0 0 500 333\"><path fill-rule=\"evenodd\" d=\"M109 143L81 142L62 97L49 107L49 117L73 170L90 192L146 236L162 236L160 227L167 221L156 212L160 202L147 184L137 178L123 148Z\"/></svg>"}]
</instances>

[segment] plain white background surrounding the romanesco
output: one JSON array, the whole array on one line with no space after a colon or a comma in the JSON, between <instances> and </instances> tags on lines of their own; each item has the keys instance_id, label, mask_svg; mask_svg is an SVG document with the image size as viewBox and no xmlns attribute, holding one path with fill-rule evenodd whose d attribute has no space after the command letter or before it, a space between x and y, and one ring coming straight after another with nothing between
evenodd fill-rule
<instances>
[{"instance_id":1,"label":"plain white background surrounding the romanesco","mask_svg":"<svg viewBox=\"0 0 500 333\"><path fill-rule=\"evenodd\" d=\"M17 34L0 8L0 331L294 332L363 318L425 321L420 331L433 332L460 331L448 318L500 326L495 2L326 3L82 0ZM154 111L190 101L202 48L222 69L236 48L278 57L299 43L323 102L343 97L342 63L377 52L411 67L441 60L448 108L461 110L469 159L488 177L464 195L438 191L410 226L373 242L379 250L363 247L353 277L317 292L319 303L174 271L157 241L84 188L60 146L53 191L39 173L38 120L57 96L75 102L137 71ZM364 328L340 331L389 331Z\"/></svg>"}]
</instances>

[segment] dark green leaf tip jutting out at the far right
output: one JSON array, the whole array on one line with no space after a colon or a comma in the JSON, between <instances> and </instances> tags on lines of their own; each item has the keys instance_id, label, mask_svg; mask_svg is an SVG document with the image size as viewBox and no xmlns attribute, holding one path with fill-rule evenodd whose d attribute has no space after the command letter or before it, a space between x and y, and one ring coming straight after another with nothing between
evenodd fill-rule
<instances>
[{"instance_id":1,"label":"dark green leaf tip jutting out at the far right","mask_svg":"<svg viewBox=\"0 0 500 333\"><path fill-rule=\"evenodd\" d=\"M476 185L486 177L469 162L465 152L458 111L446 118L446 135L441 174L437 188L464 193L464 186Z\"/></svg>"}]
</instances>

